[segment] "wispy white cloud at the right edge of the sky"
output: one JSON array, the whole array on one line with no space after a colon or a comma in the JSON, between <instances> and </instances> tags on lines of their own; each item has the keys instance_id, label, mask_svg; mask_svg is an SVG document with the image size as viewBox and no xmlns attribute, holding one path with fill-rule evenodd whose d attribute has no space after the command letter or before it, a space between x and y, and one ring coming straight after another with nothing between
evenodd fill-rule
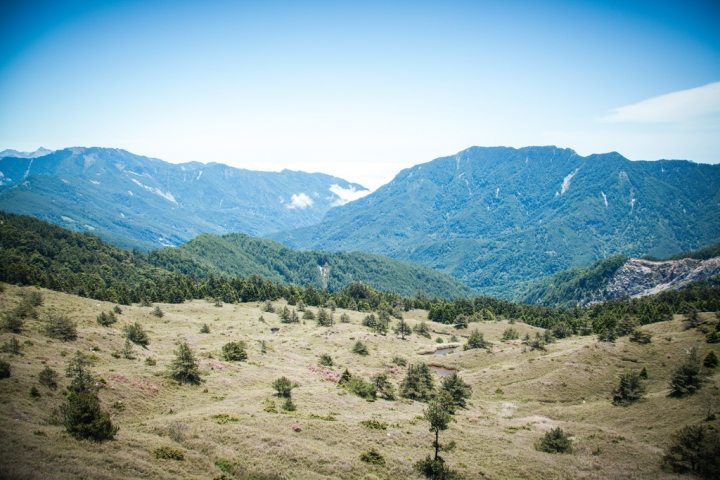
<instances>
[{"instance_id":1,"label":"wispy white cloud at the right edge of the sky","mask_svg":"<svg viewBox=\"0 0 720 480\"><path fill-rule=\"evenodd\" d=\"M599 118L611 123L677 122L720 112L720 82L626 105Z\"/></svg>"}]
</instances>

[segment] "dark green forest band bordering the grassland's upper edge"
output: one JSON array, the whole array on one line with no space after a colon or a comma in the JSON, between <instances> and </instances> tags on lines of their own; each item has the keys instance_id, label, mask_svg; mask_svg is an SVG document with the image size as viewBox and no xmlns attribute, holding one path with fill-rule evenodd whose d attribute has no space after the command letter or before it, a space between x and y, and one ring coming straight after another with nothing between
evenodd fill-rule
<instances>
[{"instance_id":1,"label":"dark green forest band bordering the grassland's upper edge","mask_svg":"<svg viewBox=\"0 0 720 480\"><path fill-rule=\"evenodd\" d=\"M423 291L409 298L378 292L362 283L331 293L312 285L282 285L258 275L246 278L205 275L204 267L189 259L183 261L191 273L172 273L152 265L147 254L109 245L89 233L75 233L33 217L6 213L0 213L0 222L0 281L121 304L142 300L181 303L202 298L229 303L283 297L291 304L302 301L315 306L332 300L341 308L359 311L421 308L429 310L431 320L447 324L456 323L460 315L471 322L504 317L544 328L565 322L578 332L587 319L596 333L614 328L626 314L646 324L663 321L690 305L702 311L720 310L717 279L695 282L686 289L656 296L604 302L588 309L550 308L491 297L448 301L428 298Z\"/></svg>"}]
</instances>

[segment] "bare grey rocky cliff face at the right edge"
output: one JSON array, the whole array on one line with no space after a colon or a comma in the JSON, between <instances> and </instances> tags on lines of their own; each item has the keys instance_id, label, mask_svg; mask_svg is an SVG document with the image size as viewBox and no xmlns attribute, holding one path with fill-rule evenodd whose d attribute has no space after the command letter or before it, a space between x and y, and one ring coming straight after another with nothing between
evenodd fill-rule
<instances>
[{"instance_id":1,"label":"bare grey rocky cliff face at the right edge","mask_svg":"<svg viewBox=\"0 0 720 480\"><path fill-rule=\"evenodd\" d=\"M628 295L632 298L654 295L665 290L682 288L693 280L720 274L720 257L709 260L670 260L651 262L632 258L608 281L603 298L611 300Z\"/></svg>"}]
</instances>

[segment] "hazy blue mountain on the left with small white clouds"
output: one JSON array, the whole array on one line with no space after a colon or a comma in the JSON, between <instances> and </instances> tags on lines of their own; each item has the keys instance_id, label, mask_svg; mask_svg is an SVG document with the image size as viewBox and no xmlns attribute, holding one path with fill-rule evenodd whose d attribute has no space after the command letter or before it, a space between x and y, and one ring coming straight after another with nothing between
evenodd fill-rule
<instances>
[{"instance_id":1,"label":"hazy blue mountain on the left with small white clouds","mask_svg":"<svg viewBox=\"0 0 720 480\"><path fill-rule=\"evenodd\" d=\"M1 158L0 172L0 208L146 249L312 225L343 203L343 189L364 189L319 173L174 165L107 148Z\"/></svg>"}]
</instances>

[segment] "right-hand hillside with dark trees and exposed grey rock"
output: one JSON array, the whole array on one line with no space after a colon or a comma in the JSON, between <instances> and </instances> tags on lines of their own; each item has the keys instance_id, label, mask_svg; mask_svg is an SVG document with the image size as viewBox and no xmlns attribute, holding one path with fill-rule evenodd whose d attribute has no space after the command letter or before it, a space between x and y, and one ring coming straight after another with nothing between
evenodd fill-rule
<instances>
[{"instance_id":1,"label":"right-hand hillside with dark trees and exposed grey rock","mask_svg":"<svg viewBox=\"0 0 720 480\"><path fill-rule=\"evenodd\" d=\"M645 297L720 275L720 244L659 259L615 255L532 282L524 303L573 307L621 297ZM712 281L712 280L711 280Z\"/></svg>"}]
</instances>

